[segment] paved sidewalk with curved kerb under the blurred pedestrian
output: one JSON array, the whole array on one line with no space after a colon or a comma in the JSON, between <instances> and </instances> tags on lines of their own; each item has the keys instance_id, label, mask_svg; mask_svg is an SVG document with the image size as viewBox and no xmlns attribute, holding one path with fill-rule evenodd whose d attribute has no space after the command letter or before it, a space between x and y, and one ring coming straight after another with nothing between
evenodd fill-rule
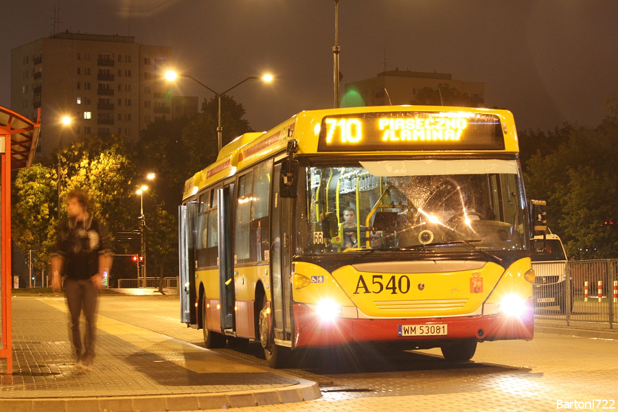
<instances>
[{"instance_id":1,"label":"paved sidewalk with curved kerb under the blurred pedestrian","mask_svg":"<svg viewBox=\"0 0 618 412\"><path fill-rule=\"evenodd\" d=\"M97 358L71 356L62 299L13 297L13 374L0 411L186 411L319 398L316 383L99 315ZM5 367L5 361L1 361Z\"/></svg>"}]
</instances>

